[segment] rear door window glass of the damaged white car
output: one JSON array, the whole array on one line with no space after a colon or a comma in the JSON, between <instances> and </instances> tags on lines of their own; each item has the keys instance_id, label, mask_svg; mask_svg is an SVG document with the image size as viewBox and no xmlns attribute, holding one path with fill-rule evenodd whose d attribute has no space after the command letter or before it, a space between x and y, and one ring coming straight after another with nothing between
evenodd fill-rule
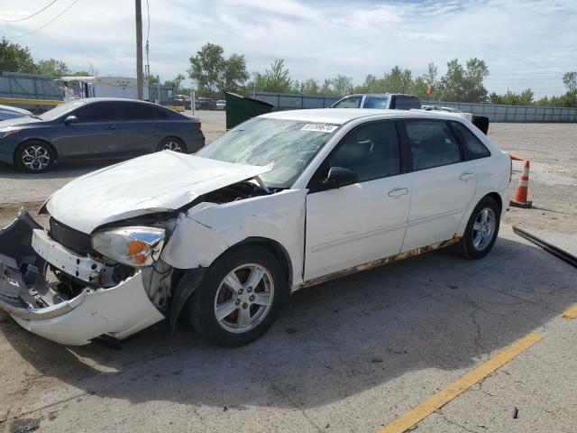
<instances>
[{"instance_id":1,"label":"rear door window glass of the damaged white car","mask_svg":"<svg viewBox=\"0 0 577 433\"><path fill-rule=\"evenodd\" d=\"M438 121L405 122L413 170L431 169L462 161L461 148L449 126Z\"/></svg>"}]
</instances>

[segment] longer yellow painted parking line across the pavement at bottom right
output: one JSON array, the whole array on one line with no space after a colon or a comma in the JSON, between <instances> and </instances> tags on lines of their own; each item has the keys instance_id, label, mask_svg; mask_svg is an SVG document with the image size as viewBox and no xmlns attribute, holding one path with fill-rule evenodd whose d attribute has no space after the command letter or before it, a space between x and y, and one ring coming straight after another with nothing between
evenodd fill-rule
<instances>
[{"instance_id":1,"label":"longer yellow painted parking line across the pavement at bottom right","mask_svg":"<svg viewBox=\"0 0 577 433\"><path fill-rule=\"evenodd\" d=\"M535 333L524 336L515 344L510 345L498 355L490 358L489 361L479 365L471 372L466 373L457 382L453 382L444 390L437 392L433 397L423 401L416 408L409 410L404 415L401 415L389 425L380 428L378 433L402 433L403 431L407 431L408 428L415 426L422 419L426 419L426 417L435 410L442 408L456 396L471 388L472 385L481 381L481 379L488 376L490 373L493 373L516 356L525 352L529 347L535 345L541 338L543 337Z\"/></svg>"}]
</instances>

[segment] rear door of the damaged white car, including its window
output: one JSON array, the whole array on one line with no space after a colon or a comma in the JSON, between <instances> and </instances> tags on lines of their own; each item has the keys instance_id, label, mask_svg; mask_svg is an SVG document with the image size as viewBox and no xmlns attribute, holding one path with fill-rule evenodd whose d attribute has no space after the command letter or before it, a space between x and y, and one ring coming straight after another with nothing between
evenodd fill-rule
<instances>
[{"instance_id":1,"label":"rear door of the damaged white car, including its window","mask_svg":"<svg viewBox=\"0 0 577 433\"><path fill-rule=\"evenodd\" d=\"M402 251L451 239L476 189L473 161L449 125L437 120L399 122L411 160L408 226Z\"/></svg>"}]
</instances>

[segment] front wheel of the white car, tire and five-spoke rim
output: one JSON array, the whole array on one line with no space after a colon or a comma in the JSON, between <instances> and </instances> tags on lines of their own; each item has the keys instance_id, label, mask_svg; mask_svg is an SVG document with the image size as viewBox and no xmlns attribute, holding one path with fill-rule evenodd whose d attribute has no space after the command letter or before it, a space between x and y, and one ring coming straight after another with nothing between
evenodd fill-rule
<instances>
[{"instance_id":1,"label":"front wheel of the white car, tire and five-spoke rim","mask_svg":"<svg viewBox=\"0 0 577 433\"><path fill-rule=\"evenodd\" d=\"M249 278L257 281L259 275L258 283L251 285ZM188 301L188 320L210 343L246 345L269 330L287 293L285 272L272 253L256 247L237 249L224 253L206 272Z\"/></svg>"}]
</instances>

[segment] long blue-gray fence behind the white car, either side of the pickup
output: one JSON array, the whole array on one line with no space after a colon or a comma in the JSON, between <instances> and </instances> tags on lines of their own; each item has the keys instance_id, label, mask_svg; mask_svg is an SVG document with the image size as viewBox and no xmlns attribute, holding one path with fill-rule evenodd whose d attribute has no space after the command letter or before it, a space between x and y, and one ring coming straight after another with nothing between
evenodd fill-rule
<instances>
[{"instance_id":1,"label":"long blue-gray fence behind the white car, either side of the pickup","mask_svg":"<svg viewBox=\"0 0 577 433\"><path fill-rule=\"evenodd\" d=\"M272 92L256 92L254 97L272 104L277 110L326 108L341 98ZM484 115L489 117L490 122L577 122L577 108L561 106L501 106L432 100L424 100L421 103L427 106L448 106L465 113Z\"/></svg>"}]
</instances>

